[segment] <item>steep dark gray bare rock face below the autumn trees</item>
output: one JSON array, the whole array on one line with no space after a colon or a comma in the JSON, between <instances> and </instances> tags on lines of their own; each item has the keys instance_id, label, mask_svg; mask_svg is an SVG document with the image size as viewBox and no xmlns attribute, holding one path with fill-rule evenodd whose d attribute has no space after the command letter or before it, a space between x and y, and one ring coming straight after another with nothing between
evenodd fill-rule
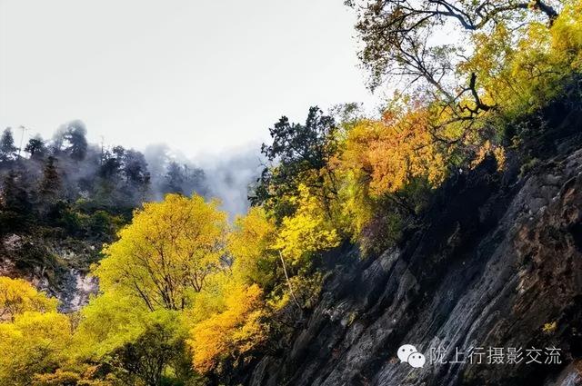
<instances>
[{"instance_id":1,"label":"steep dark gray bare rock face below the autumn trees","mask_svg":"<svg viewBox=\"0 0 582 386\"><path fill-rule=\"evenodd\" d=\"M522 178L492 163L459 175L424 229L337 269L290 347L258 361L246 382L582 384L582 148L558 153ZM423 368L398 360L405 343L426 355ZM487 364L489 347L504 361L507 348L522 348L522 361ZM527 349L545 361L553 347L560 363L526 363ZM430 362L438 348L447 363ZM483 363L450 363L455 348L483 348Z\"/></svg>"}]
</instances>

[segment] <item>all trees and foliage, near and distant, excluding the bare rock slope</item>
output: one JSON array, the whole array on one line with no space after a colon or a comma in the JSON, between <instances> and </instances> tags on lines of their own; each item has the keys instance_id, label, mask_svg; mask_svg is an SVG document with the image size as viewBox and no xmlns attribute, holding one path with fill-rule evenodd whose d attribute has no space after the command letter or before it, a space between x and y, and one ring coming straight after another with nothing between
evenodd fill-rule
<instances>
[{"instance_id":1,"label":"all trees and foliage, near and distant, excluding the bare rock slope","mask_svg":"<svg viewBox=\"0 0 582 386\"><path fill-rule=\"evenodd\" d=\"M281 117L253 206L234 223L177 189L175 166L165 199L149 202L143 156L88 146L78 123L48 147L31 140L27 159L5 132L1 229L20 240L11 261L17 271L91 263L99 292L65 313L0 278L0 384L236 384L258 358L289 350L337 251L366 260L405 242L436 190L483 163L503 170L516 154L527 173L544 109L582 97L579 0L347 3L370 86L398 91L378 116L346 104L312 107L301 124ZM447 28L461 40L431 39ZM27 246L32 235L92 252L59 262Z\"/></svg>"}]
</instances>

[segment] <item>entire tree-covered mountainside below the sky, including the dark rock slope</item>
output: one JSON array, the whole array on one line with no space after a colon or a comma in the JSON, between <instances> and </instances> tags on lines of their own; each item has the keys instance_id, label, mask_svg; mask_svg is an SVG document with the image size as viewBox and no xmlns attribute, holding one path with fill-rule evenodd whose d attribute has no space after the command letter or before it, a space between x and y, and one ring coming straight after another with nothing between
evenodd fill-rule
<instances>
[{"instance_id":1,"label":"entire tree-covered mountainside below the sky, including the dark rock slope","mask_svg":"<svg viewBox=\"0 0 582 386\"><path fill-rule=\"evenodd\" d=\"M580 381L582 3L346 5L369 86L396 92L380 114L278 119L234 222L198 171L155 182L79 123L22 152L5 132L1 384ZM75 312L41 291L58 283L15 278L89 265L98 292ZM440 342L562 361L397 360Z\"/></svg>"}]
</instances>

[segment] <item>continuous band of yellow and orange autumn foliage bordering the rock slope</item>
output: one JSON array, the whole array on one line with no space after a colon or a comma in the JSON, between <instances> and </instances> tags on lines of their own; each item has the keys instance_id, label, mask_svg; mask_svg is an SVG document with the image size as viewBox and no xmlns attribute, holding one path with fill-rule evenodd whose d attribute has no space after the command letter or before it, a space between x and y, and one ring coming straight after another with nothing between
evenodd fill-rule
<instances>
[{"instance_id":1,"label":"continuous band of yellow and orange autumn foliage bordering the rock slope","mask_svg":"<svg viewBox=\"0 0 582 386\"><path fill-rule=\"evenodd\" d=\"M104 246L92 268L99 293L80 312L59 313L28 282L0 277L0 384L229 384L266 348L288 349L284 338L306 322L335 249L356 245L365 259L397 245L422 226L448 177L487 157L503 168L507 152L544 130L524 128L525 118L579 82L579 0L548 11L551 23L540 9L527 10L527 23L516 9L496 13L496 23L470 29L460 59L426 46L430 67L406 59L417 45L402 45L401 30L370 29L418 14L403 19L402 2L373 3L358 28L375 86L388 70L426 82L406 84L379 114L346 105L312 107L301 124L282 117L263 146L253 205L232 223L196 194L144 203Z\"/></svg>"}]
</instances>

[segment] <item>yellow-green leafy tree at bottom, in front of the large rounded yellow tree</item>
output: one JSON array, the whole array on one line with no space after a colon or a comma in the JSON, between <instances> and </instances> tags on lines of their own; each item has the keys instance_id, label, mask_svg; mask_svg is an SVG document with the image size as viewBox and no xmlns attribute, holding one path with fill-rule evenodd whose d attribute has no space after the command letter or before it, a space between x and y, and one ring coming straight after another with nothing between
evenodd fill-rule
<instances>
[{"instance_id":1,"label":"yellow-green leafy tree at bottom, in front of the large rounded yellow tree","mask_svg":"<svg viewBox=\"0 0 582 386\"><path fill-rule=\"evenodd\" d=\"M182 311L151 312L141 300L114 289L93 298L81 316L72 359L102 363L115 384L159 386L164 374L176 382L192 375Z\"/></svg>"}]
</instances>

